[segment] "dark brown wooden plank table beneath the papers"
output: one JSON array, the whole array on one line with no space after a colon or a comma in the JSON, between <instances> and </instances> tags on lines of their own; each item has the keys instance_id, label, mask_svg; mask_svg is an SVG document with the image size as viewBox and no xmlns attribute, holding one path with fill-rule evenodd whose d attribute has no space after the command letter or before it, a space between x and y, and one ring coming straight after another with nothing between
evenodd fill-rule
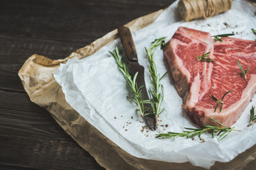
<instances>
[{"instance_id":1,"label":"dark brown wooden plank table beneath the papers","mask_svg":"<svg viewBox=\"0 0 256 170\"><path fill-rule=\"evenodd\" d=\"M30 101L18 70L35 53L67 57L172 1L1 0L0 169L104 169Z\"/></svg>"}]
</instances>

